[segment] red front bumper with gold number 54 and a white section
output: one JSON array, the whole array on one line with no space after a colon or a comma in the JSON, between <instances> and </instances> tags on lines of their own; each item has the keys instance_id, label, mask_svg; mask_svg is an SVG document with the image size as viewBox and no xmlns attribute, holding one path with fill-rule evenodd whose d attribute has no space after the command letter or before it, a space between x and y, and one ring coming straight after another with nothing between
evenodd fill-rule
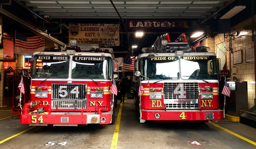
<instances>
[{"instance_id":1,"label":"red front bumper with gold number 54 and a white section","mask_svg":"<svg viewBox=\"0 0 256 149\"><path fill-rule=\"evenodd\" d=\"M31 111L30 111L31 112ZM102 122L102 120L105 121ZM111 111L95 114L95 112L51 112L51 114L21 114L21 124L30 124L31 126L76 126L78 124L110 124Z\"/></svg>"}]
</instances>

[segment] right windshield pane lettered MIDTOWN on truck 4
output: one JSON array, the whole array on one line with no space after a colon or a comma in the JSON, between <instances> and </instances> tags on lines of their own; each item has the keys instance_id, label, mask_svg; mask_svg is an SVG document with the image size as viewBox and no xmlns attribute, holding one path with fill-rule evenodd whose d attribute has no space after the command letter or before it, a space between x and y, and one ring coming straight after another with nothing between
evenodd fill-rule
<instances>
[{"instance_id":1,"label":"right windshield pane lettered MIDTOWN on truck 4","mask_svg":"<svg viewBox=\"0 0 256 149\"><path fill-rule=\"evenodd\" d=\"M180 57L181 79L218 79L216 56Z\"/></svg>"}]
</instances>

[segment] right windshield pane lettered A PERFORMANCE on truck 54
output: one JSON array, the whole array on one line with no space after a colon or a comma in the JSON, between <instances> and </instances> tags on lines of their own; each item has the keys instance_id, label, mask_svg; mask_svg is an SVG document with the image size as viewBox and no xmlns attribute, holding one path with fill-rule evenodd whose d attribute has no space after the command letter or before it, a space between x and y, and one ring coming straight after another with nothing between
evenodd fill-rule
<instances>
[{"instance_id":1,"label":"right windshield pane lettered A PERFORMANCE on truck 54","mask_svg":"<svg viewBox=\"0 0 256 149\"><path fill-rule=\"evenodd\" d=\"M73 56L73 79L111 79L111 57Z\"/></svg>"}]
</instances>

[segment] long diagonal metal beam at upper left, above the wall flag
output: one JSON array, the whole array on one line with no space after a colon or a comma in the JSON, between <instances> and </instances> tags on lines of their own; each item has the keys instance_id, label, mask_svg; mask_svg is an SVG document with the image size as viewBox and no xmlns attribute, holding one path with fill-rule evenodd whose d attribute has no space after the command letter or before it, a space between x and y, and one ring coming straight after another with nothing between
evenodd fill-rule
<instances>
[{"instance_id":1,"label":"long diagonal metal beam at upper left, above the wall flag","mask_svg":"<svg viewBox=\"0 0 256 149\"><path fill-rule=\"evenodd\" d=\"M31 24L28 24L27 22L25 22L23 19L18 18L17 16L13 15L12 13L8 12L7 10L4 9L0 9L0 13L2 13L3 15L9 17L12 20L15 20L16 22L20 23L22 27L27 28L28 30L30 30L31 32L34 32L35 34L54 42L55 44L58 44L60 46L65 47L66 44L64 44L63 42L51 37L50 35L48 35L47 33L41 31L40 29L37 29L36 27L32 26Z\"/></svg>"}]
</instances>

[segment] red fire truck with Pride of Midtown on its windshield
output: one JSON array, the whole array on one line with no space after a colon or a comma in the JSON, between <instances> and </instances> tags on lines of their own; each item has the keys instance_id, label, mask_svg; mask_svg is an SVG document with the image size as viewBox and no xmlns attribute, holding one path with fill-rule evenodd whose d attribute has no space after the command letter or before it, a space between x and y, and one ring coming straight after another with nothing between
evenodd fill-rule
<instances>
[{"instance_id":1,"label":"red fire truck with Pride of Midtown on its windshield","mask_svg":"<svg viewBox=\"0 0 256 149\"><path fill-rule=\"evenodd\" d=\"M183 33L158 37L135 60L139 122L223 120L219 110L219 60L208 47L192 50Z\"/></svg>"}]
</instances>

